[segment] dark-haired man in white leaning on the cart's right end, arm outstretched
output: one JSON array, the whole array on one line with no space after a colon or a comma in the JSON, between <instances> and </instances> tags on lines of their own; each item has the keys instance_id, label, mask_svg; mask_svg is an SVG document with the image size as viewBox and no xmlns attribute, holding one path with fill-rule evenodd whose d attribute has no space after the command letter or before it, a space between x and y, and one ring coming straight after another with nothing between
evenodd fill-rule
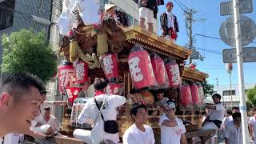
<instances>
[{"instance_id":1,"label":"dark-haired man in white leaning on the cart's right end, arm outstretched","mask_svg":"<svg viewBox=\"0 0 256 144\"><path fill-rule=\"evenodd\" d=\"M220 100L222 98L219 94L212 96L214 105L206 105L207 109L210 109L205 121L203 122L202 130L218 130L222 125L222 120L225 114L225 108L222 106ZM217 138L215 138L217 140ZM202 142L205 138L202 137Z\"/></svg>"}]
</instances>

